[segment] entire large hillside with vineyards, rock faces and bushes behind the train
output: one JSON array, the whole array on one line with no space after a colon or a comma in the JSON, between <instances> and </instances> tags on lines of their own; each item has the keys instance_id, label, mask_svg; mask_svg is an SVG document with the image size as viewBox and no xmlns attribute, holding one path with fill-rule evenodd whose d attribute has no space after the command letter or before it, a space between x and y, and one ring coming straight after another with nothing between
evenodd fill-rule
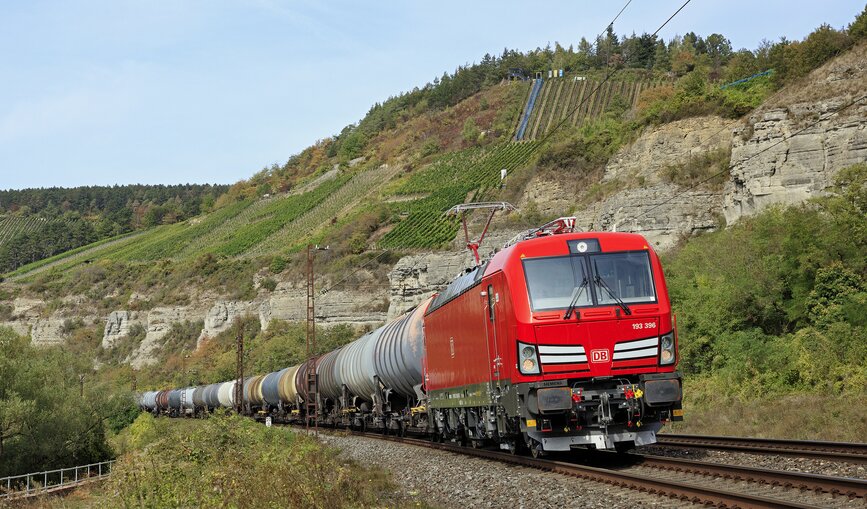
<instances>
[{"instance_id":1,"label":"entire large hillside with vineyards, rock faces and bushes behind the train","mask_svg":"<svg viewBox=\"0 0 867 509\"><path fill-rule=\"evenodd\" d=\"M63 345L75 366L93 366L87 376L116 387L231 377L234 325L248 367L274 370L303 355L307 244L329 246L316 252L324 351L466 267L462 232L443 212L505 200L519 211L497 216L483 251L568 214L584 229L642 233L665 253L694 382L688 412L709 415L726 398L783 412L829 387L822 408L838 412L867 387L863 349L832 345L840 331L864 337L852 309L863 309L867 287L865 25L867 10L848 30L822 26L755 52L732 51L718 34L666 43L610 33L609 58L589 45L486 57L375 105L204 213L8 271L0 326ZM538 85L506 79L512 67L560 66L566 75L546 79L535 112ZM578 76L605 81L606 95L580 98ZM515 141L523 117L532 139ZM554 129L567 118L576 120ZM809 362L813 340L828 356L824 372ZM745 359L753 343L762 347ZM767 415L739 425L760 430ZM820 424L798 433L851 436Z\"/></svg>"}]
</instances>

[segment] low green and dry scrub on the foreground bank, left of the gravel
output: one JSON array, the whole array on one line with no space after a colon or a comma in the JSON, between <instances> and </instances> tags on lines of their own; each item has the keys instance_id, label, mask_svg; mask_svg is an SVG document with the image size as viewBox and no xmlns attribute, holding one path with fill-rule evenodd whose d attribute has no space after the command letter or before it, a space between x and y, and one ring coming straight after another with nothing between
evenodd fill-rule
<instances>
[{"instance_id":1,"label":"low green and dry scrub on the foreground bank, left of the gravel","mask_svg":"<svg viewBox=\"0 0 867 509\"><path fill-rule=\"evenodd\" d=\"M393 490L316 440L240 416L130 428L136 447L115 464L101 507L380 506Z\"/></svg>"}]
</instances>

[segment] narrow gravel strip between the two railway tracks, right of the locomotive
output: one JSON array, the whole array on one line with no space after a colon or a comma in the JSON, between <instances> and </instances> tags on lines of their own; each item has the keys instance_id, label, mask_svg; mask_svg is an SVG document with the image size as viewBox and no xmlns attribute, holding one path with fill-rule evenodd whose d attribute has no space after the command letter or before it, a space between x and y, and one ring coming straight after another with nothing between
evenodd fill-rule
<instances>
[{"instance_id":1,"label":"narrow gravel strip between the two railway tracks, right of the locomotive","mask_svg":"<svg viewBox=\"0 0 867 509\"><path fill-rule=\"evenodd\" d=\"M867 480L867 465L842 461L797 458L794 456L772 456L736 451L717 451L713 449L670 447L663 445L639 447L636 449L636 452L696 461L725 463L728 465L744 465L771 470L806 472L810 474L822 474L834 477L852 477L855 479Z\"/></svg>"}]
</instances>

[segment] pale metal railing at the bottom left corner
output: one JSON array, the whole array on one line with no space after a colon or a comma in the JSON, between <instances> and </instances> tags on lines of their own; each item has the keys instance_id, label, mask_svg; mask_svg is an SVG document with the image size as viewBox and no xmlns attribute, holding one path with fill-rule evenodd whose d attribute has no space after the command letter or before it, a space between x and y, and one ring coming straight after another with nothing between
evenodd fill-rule
<instances>
[{"instance_id":1,"label":"pale metal railing at the bottom left corner","mask_svg":"<svg viewBox=\"0 0 867 509\"><path fill-rule=\"evenodd\" d=\"M111 475L115 461L107 460L75 467L2 477L0 478L0 500L28 497L105 479Z\"/></svg>"}]
</instances>

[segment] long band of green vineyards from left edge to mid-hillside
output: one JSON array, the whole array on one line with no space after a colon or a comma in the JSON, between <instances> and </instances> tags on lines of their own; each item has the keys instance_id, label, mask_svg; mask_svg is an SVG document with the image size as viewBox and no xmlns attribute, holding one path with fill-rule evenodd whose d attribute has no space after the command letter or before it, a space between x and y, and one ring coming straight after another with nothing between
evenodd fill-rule
<instances>
[{"instance_id":1,"label":"long band of green vineyards from left edge to mid-hillside","mask_svg":"<svg viewBox=\"0 0 867 509\"><path fill-rule=\"evenodd\" d=\"M524 166L534 148L534 143L526 142L450 152L398 180L394 180L401 170L398 166L345 171L305 187L306 192L236 201L182 223L41 260L9 276L26 280L46 270L66 271L98 260L147 263L203 254L256 258L291 253L379 199L389 202L396 224L378 247L438 248L451 242L458 228L457 221L444 212L465 201L495 199L500 170Z\"/></svg>"}]
</instances>

